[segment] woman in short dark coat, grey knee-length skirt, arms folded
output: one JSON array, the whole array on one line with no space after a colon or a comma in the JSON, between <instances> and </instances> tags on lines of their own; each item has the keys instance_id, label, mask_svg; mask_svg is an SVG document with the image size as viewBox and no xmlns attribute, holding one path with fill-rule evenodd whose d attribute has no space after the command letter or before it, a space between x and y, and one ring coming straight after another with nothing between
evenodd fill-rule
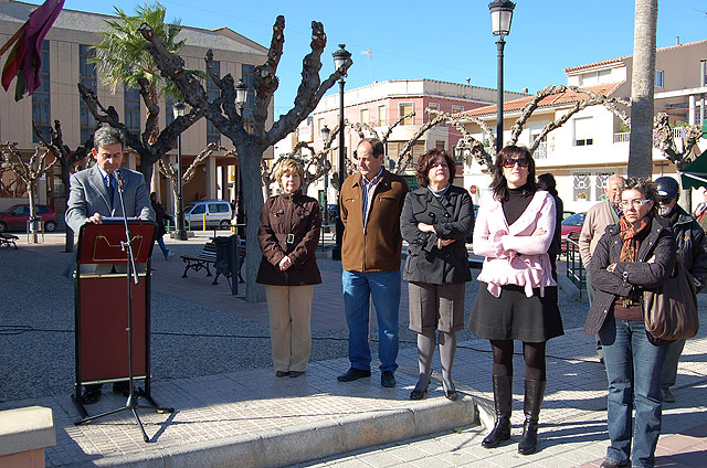
<instances>
[{"instance_id":1,"label":"woman in short dark coat, grey knee-length skirt, arms folded","mask_svg":"<svg viewBox=\"0 0 707 468\"><path fill-rule=\"evenodd\" d=\"M454 173L454 160L445 151L422 156L416 168L420 188L408 192L400 216L409 244L403 279L410 281L410 329L418 333L420 366L410 400L428 392L437 342L444 396L458 397L452 365L456 332L464 328L465 286L472 280L464 238L474 230L474 206L466 190L452 185Z\"/></svg>"}]
</instances>

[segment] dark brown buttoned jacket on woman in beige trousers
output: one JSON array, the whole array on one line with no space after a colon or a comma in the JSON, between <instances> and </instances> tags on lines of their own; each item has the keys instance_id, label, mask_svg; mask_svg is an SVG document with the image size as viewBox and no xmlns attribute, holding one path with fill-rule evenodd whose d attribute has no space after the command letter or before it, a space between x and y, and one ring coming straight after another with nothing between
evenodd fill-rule
<instances>
[{"instance_id":1,"label":"dark brown buttoned jacket on woman in beige trousers","mask_svg":"<svg viewBox=\"0 0 707 468\"><path fill-rule=\"evenodd\" d=\"M302 191L281 194L265 201L257 231L263 258L256 281L263 285L318 285L316 248L321 228L319 203ZM277 267L287 255L293 265L284 272Z\"/></svg>"}]
</instances>

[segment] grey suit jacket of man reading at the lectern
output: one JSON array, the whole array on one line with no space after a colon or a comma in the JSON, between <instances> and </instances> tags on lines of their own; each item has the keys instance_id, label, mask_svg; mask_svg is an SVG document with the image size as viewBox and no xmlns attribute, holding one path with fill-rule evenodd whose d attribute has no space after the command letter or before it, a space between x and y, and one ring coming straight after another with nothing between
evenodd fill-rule
<instances>
[{"instance_id":1,"label":"grey suit jacket of man reading at the lectern","mask_svg":"<svg viewBox=\"0 0 707 468\"><path fill-rule=\"evenodd\" d=\"M120 168L124 183L126 216L155 221L145 177L129 169ZM88 216L98 213L102 216L123 216L119 195L116 193L110 204L108 189L101 176L98 166L76 172L71 177L68 206L65 213L66 224L78 233Z\"/></svg>"}]
</instances>

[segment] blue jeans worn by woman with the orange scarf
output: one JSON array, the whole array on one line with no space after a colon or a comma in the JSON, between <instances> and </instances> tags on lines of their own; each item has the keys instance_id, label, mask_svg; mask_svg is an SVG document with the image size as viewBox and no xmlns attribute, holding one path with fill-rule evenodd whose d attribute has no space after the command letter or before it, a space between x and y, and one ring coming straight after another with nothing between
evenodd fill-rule
<instances>
[{"instance_id":1,"label":"blue jeans worn by woman with the orange scarf","mask_svg":"<svg viewBox=\"0 0 707 468\"><path fill-rule=\"evenodd\" d=\"M606 458L614 462L631 459L634 467L652 467L661 435L661 370L667 348L651 344L642 321L616 320L613 316L606 318L599 337L609 380L606 424L611 445ZM632 410L635 423L631 457Z\"/></svg>"}]
</instances>

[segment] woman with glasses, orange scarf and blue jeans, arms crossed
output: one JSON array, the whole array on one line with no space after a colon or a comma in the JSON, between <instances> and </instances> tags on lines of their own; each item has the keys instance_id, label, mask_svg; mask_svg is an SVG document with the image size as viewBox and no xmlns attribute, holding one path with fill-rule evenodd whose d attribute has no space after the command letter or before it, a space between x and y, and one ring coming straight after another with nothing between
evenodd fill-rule
<instances>
[{"instance_id":1,"label":"woman with glasses, orange scarf and blue jeans, arms crossed","mask_svg":"<svg viewBox=\"0 0 707 468\"><path fill-rule=\"evenodd\" d=\"M656 221L656 205L655 183L629 178L621 193L623 216L619 224L606 227L590 265L595 292L584 333L599 333L609 381L611 445L603 468L655 464L662 423L661 371L667 347L648 340L641 302L643 290L662 285L676 260L675 241Z\"/></svg>"}]
</instances>

